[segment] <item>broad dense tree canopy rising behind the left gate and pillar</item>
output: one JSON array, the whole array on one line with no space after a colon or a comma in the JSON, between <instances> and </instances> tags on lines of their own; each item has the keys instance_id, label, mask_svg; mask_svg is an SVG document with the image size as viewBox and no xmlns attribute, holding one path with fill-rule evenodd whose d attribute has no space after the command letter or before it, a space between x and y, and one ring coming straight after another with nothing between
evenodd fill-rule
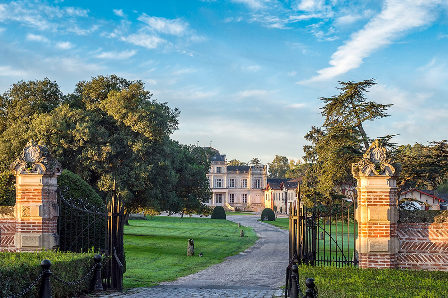
<instances>
[{"instance_id":1,"label":"broad dense tree canopy rising behind the left gate and pillar","mask_svg":"<svg viewBox=\"0 0 448 298\"><path fill-rule=\"evenodd\" d=\"M97 191L116 180L128 210L181 212L210 196L208 155L169 138L179 111L153 99L142 81L97 76L66 96L54 81L21 81L0 100L1 170L34 138Z\"/></svg>"}]
</instances>

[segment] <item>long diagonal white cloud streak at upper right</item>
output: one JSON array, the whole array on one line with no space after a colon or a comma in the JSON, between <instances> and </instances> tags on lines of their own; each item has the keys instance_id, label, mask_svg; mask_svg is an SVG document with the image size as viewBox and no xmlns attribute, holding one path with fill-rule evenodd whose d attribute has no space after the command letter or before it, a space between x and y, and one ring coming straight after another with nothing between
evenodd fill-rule
<instances>
[{"instance_id":1,"label":"long diagonal white cloud streak at upper right","mask_svg":"<svg viewBox=\"0 0 448 298\"><path fill-rule=\"evenodd\" d=\"M376 50L392 44L396 38L433 21L435 6L442 0L388 0L382 11L371 19L363 29L353 33L350 39L333 53L329 64L318 76L299 83L332 79L353 68Z\"/></svg>"}]
</instances>

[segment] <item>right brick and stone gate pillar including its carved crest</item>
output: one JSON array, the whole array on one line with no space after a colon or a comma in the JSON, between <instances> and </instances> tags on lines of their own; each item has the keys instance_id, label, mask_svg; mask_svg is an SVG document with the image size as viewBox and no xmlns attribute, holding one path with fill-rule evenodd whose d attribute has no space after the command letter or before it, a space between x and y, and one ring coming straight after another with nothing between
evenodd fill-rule
<instances>
[{"instance_id":1,"label":"right brick and stone gate pillar including its carved crest","mask_svg":"<svg viewBox=\"0 0 448 298\"><path fill-rule=\"evenodd\" d=\"M399 241L396 179L401 165L394 164L380 140L375 140L363 158L352 164L358 180L357 248L360 268L394 268Z\"/></svg>"}]
</instances>

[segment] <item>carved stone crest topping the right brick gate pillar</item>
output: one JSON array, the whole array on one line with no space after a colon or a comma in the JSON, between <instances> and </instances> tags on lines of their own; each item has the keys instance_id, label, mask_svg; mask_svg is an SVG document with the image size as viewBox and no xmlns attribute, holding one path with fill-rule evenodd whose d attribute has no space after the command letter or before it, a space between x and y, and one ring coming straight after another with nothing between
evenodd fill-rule
<instances>
[{"instance_id":1,"label":"carved stone crest topping the right brick gate pillar","mask_svg":"<svg viewBox=\"0 0 448 298\"><path fill-rule=\"evenodd\" d=\"M352 164L352 174L358 176L400 176L401 164L395 164L389 158L388 151L381 143L375 140L362 159L358 163Z\"/></svg>"}]
</instances>

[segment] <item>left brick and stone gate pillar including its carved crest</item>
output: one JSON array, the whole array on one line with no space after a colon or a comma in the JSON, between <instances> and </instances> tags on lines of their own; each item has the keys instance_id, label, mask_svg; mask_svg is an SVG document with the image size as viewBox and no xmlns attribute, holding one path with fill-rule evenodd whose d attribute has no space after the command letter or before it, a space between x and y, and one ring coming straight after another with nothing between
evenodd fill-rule
<instances>
[{"instance_id":1,"label":"left brick and stone gate pillar including its carved crest","mask_svg":"<svg viewBox=\"0 0 448 298\"><path fill-rule=\"evenodd\" d=\"M17 251L57 248L56 189L61 164L53 159L45 144L36 144L30 139L10 169L16 176L14 243Z\"/></svg>"}]
</instances>

